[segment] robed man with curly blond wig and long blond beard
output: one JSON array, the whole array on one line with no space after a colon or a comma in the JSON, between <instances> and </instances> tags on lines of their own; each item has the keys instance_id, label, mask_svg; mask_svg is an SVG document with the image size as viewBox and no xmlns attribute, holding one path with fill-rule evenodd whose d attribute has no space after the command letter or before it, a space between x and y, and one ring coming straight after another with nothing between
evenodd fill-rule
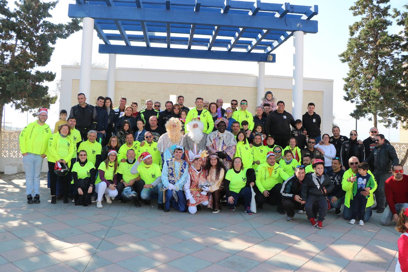
<instances>
[{"instance_id":1,"label":"robed man with curly blond wig and long blond beard","mask_svg":"<svg viewBox=\"0 0 408 272\"><path fill-rule=\"evenodd\" d=\"M157 148L162 155L162 165L164 161L173 157L171 146L183 146L184 135L181 133L181 121L175 117L171 117L166 123L167 132L160 136L157 142Z\"/></svg>"}]
</instances>

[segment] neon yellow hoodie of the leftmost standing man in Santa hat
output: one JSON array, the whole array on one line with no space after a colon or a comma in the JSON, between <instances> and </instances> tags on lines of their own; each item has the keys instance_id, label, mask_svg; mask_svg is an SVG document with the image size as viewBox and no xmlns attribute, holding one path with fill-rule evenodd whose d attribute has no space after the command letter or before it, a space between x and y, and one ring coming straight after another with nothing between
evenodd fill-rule
<instances>
[{"instance_id":1,"label":"neon yellow hoodie of the leftmost standing man in Santa hat","mask_svg":"<svg viewBox=\"0 0 408 272\"><path fill-rule=\"evenodd\" d=\"M37 121L28 124L18 138L21 153L45 154L51 135L51 128L47 124L40 126Z\"/></svg>"}]
</instances>

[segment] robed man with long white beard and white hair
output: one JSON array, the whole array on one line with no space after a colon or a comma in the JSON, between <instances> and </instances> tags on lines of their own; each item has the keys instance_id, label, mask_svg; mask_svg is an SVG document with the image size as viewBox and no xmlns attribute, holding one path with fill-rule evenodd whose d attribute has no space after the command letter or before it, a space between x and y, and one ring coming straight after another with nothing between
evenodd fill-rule
<instances>
[{"instance_id":1,"label":"robed man with long white beard and white hair","mask_svg":"<svg viewBox=\"0 0 408 272\"><path fill-rule=\"evenodd\" d=\"M203 132L204 124L199 119L192 119L187 125L188 133L184 135L185 160L190 162L195 154L205 150L207 134Z\"/></svg>"}]
</instances>

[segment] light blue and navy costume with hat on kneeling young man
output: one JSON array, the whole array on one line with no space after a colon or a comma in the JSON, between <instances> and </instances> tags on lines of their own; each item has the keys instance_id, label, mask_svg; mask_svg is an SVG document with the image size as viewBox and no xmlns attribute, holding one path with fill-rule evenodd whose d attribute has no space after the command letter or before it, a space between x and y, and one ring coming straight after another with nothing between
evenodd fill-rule
<instances>
[{"instance_id":1,"label":"light blue and navy costume with hat on kneeling young man","mask_svg":"<svg viewBox=\"0 0 408 272\"><path fill-rule=\"evenodd\" d=\"M182 146L175 146L174 150L182 150ZM162 183L164 187L165 195L165 211L170 210L170 206L173 206L180 212L187 210L187 200L184 194L183 186L187 181L188 176L188 163L183 159L178 162L174 158L168 159L164 162L162 170ZM169 189L169 185L175 186L176 190ZM172 187L172 186L171 186Z\"/></svg>"}]
</instances>

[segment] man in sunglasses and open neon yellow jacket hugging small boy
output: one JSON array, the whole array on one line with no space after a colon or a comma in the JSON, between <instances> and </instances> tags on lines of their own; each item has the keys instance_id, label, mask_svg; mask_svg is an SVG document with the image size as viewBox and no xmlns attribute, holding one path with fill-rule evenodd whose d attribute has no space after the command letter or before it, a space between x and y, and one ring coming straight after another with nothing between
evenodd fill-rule
<instances>
[{"instance_id":1,"label":"man in sunglasses and open neon yellow jacket hugging small boy","mask_svg":"<svg viewBox=\"0 0 408 272\"><path fill-rule=\"evenodd\" d=\"M353 206L353 182L355 181L355 175L358 172L357 165L359 164L359 159L357 157L351 157L348 159L348 166L350 168L344 172L343 180L341 181L341 188L346 191L346 196L344 198L344 211L343 211L343 218L346 220L351 219L352 209ZM373 173L370 170L367 171L368 174L371 175L374 179ZM371 217L371 206L374 204L374 192L377 189L377 181L374 179L374 187L370 190L370 192L361 192L361 195L368 195L367 198L367 205L366 205L366 214L364 215L364 222L368 221Z\"/></svg>"}]
</instances>

